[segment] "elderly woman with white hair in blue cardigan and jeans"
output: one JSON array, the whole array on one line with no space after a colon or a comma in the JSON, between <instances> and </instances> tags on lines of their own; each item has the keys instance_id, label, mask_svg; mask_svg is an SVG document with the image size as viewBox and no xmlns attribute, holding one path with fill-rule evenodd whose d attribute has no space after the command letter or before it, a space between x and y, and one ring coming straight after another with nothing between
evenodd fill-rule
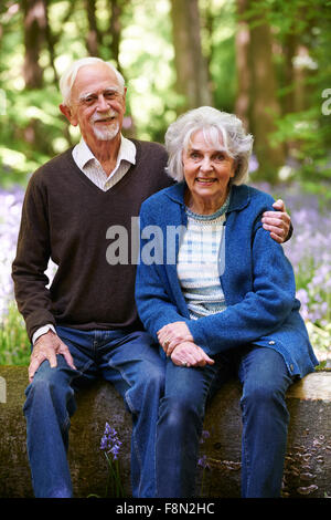
<instances>
[{"instance_id":1,"label":"elderly woman with white hair in blue cardigan and jeans","mask_svg":"<svg viewBox=\"0 0 331 520\"><path fill-rule=\"evenodd\" d=\"M244 184L252 144L234 115L184 114L166 135L179 183L141 207L138 312L167 354L158 497L194 496L206 399L233 371L243 385L242 496L278 497L286 391L318 363L292 268L260 221L274 200Z\"/></svg>"}]
</instances>

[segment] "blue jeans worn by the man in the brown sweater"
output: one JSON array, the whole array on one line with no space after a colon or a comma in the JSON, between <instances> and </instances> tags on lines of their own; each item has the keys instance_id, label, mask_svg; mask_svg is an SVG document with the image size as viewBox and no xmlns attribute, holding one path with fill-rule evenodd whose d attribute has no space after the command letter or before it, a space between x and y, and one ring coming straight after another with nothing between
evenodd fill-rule
<instances>
[{"instance_id":1,"label":"blue jeans worn by the man in the brown sweater","mask_svg":"<svg viewBox=\"0 0 331 520\"><path fill-rule=\"evenodd\" d=\"M132 414L131 483L136 498L154 496L156 425L164 386L164 363L146 332L56 327L77 371L62 355L44 361L25 391L28 455L35 497L72 497L67 464L75 393L98 375L115 385ZM111 414L111 410L109 410ZM96 439L97 441L97 439Z\"/></svg>"}]
</instances>

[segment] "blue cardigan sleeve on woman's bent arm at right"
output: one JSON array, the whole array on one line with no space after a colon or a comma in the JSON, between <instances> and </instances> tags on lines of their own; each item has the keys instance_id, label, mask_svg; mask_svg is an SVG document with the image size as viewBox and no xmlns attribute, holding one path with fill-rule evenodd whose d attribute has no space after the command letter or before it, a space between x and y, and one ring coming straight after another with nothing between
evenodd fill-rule
<instances>
[{"instance_id":1,"label":"blue cardigan sleeve on woman's bent arm at right","mask_svg":"<svg viewBox=\"0 0 331 520\"><path fill-rule=\"evenodd\" d=\"M221 313L188 321L209 355L257 341L276 329L298 304L292 267L260 221L253 240L253 290Z\"/></svg>"}]
</instances>

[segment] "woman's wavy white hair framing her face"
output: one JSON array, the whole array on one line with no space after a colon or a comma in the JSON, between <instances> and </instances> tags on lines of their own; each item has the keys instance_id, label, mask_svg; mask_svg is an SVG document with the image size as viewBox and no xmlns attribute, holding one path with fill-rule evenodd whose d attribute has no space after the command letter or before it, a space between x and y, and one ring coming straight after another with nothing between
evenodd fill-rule
<instances>
[{"instance_id":1,"label":"woman's wavy white hair framing her face","mask_svg":"<svg viewBox=\"0 0 331 520\"><path fill-rule=\"evenodd\" d=\"M169 159L167 173L174 180L184 180L182 153L191 144L191 136L202 131L205 142L215 149L224 150L235 160L232 184L241 185L248 178L248 162L253 136L246 134L242 121L234 114L201 106L181 115L166 133Z\"/></svg>"}]
</instances>

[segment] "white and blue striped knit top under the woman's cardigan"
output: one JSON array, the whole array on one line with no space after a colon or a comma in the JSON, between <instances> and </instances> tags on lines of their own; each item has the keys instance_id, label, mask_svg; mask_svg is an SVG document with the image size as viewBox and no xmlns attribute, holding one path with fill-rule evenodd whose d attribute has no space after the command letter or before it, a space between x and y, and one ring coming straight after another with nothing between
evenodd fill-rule
<instances>
[{"instance_id":1,"label":"white and blue striped knit top under the woman's cardigan","mask_svg":"<svg viewBox=\"0 0 331 520\"><path fill-rule=\"evenodd\" d=\"M226 308L220 280L225 266L220 251L228 202L229 195L213 215L197 215L186 208L188 228L179 250L177 273L192 320Z\"/></svg>"}]
</instances>

